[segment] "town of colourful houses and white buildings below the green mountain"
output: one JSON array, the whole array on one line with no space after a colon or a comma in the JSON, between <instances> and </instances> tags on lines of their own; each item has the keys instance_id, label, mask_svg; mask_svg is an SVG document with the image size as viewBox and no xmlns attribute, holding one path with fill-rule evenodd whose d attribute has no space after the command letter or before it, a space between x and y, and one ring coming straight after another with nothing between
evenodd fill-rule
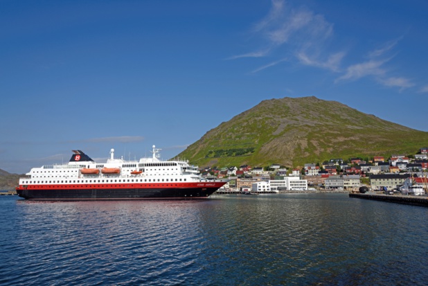
<instances>
[{"instance_id":1,"label":"town of colourful houses and white buildings below the green mountain","mask_svg":"<svg viewBox=\"0 0 428 286\"><path fill-rule=\"evenodd\" d=\"M423 195L427 193L428 148L417 154L391 154L391 157L333 158L323 163L305 163L303 168L248 165L229 168L202 168L206 180L229 179L217 193L298 193L326 190L355 192L368 190L387 195Z\"/></svg>"}]
</instances>

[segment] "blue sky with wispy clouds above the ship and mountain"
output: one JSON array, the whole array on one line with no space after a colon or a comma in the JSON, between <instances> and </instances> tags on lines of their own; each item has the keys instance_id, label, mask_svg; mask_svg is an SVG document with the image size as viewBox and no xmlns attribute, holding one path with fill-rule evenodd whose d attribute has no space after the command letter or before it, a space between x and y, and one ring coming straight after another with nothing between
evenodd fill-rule
<instances>
[{"instance_id":1,"label":"blue sky with wispy clouds above the ship and mountain","mask_svg":"<svg viewBox=\"0 0 428 286\"><path fill-rule=\"evenodd\" d=\"M427 15L425 0L1 0L0 168L153 144L169 159L286 96L428 131Z\"/></svg>"}]
</instances>

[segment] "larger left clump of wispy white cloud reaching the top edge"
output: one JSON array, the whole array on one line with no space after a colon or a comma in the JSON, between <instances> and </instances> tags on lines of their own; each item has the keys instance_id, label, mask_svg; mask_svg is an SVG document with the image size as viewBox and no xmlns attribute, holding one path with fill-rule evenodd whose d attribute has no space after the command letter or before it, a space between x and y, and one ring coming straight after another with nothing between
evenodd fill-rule
<instances>
[{"instance_id":1,"label":"larger left clump of wispy white cloud reaching the top edge","mask_svg":"<svg viewBox=\"0 0 428 286\"><path fill-rule=\"evenodd\" d=\"M326 39L333 35L333 24L326 21L323 15L316 14L307 8L292 7L283 0L271 1L268 14L254 24L251 33L258 39L256 45L259 48L250 53L233 55L227 60L268 55L281 59L287 56L289 60L296 57L301 64L337 71L345 54L339 52L330 55L321 48ZM281 61L274 60L251 73Z\"/></svg>"}]
</instances>

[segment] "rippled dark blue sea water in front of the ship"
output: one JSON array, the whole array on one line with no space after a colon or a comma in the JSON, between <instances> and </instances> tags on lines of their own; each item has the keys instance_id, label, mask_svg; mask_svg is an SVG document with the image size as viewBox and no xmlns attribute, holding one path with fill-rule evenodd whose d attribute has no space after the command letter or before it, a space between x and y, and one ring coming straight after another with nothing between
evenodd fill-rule
<instances>
[{"instance_id":1,"label":"rippled dark blue sea water in front of the ship","mask_svg":"<svg viewBox=\"0 0 428 286\"><path fill-rule=\"evenodd\" d=\"M0 197L0 285L427 285L428 208L344 194Z\"/></svg>"}]
</instances>

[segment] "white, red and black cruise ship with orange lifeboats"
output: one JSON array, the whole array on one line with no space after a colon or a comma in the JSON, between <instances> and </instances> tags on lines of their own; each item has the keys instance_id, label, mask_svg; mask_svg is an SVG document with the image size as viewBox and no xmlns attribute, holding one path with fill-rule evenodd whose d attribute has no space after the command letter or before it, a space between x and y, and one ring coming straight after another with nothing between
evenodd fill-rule
<instances>
[{"instance_id":1,"label":"white, red and black cruise ship with orange lifeboats","mask_svg":"<svg viewBox=\"0 0 428 286\"><path fill-rule=\"evenodd\" d=\"M69 163L32 168L19 179L19 197L39 200L206 199L227 180L205 181L187 161L161 161L152 146L152 157L139 161L114 158L96 163L73 150Z\"/></svg>"}]
</instances>

